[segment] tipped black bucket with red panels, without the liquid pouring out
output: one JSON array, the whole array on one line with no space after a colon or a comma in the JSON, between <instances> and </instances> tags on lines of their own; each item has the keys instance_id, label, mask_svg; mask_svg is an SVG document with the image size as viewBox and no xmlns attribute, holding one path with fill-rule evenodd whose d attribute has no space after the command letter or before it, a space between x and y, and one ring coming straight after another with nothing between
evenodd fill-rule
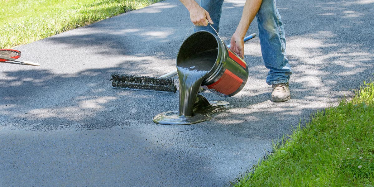
<instances>
[{"instance_id":1,"label":"tipped black bucket with red panels, without the liquid pouring out","mask_svg":"<svg viewBox=\"0 0 374 187\"><path fill-rule=\"evenodd\" d=\"M202 87L222 97L233 96L242 90L247 82L248 66L220 37L208 31L191 34L179 49L177 66L189 56L213 49L218 49L217 58L203 80Z\"/></svg>"}]
</instances>

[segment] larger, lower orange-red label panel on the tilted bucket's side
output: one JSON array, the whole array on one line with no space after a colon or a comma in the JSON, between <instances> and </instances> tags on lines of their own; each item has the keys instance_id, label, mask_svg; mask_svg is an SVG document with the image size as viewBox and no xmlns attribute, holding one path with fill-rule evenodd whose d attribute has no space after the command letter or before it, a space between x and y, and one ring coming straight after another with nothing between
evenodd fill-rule
<instances>
[{"instance_id":1,"label":"larger, lower orange-red label panel on the tilted bucket's side","mask_svg":"<svg viewBox=\"0 0 374 187\"><path fill-rule=\"evenodd\" d=\"M242 83L242 79L226 69L225 73L217 82L208 85L207 87L209 89L215 89L225 95L230 95L231 93L234 93Z\"/></svg>"}]
</instances>

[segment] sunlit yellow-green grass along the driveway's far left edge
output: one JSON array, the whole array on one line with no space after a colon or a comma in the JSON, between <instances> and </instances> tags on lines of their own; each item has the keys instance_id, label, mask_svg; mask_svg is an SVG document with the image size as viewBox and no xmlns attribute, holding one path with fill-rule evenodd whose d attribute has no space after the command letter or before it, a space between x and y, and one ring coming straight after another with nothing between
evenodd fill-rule
<instances>
[{"instance_id":1,"label":"sunlit yellow-green grass along the driveway's far left edge","mask_svg":"<svg viewBox=\"0 0 374 187\"><path fill-rule=\"evenodd\" d=\"M161 0L0 0L0 48L27 44Z\"/></svg>"}]
</instances>

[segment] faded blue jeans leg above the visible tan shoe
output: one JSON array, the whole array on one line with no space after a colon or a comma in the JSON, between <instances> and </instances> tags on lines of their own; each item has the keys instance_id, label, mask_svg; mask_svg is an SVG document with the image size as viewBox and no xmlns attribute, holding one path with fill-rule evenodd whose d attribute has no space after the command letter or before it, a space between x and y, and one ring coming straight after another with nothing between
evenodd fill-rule
<instances>
[{"instance_id":1,"label":"faded blue jeans leg above the visible tan shoe","mask_svg":"<svg viewBox=\"0 0 374 187\"><path fill-rule=\"evenodd\" d=\"M284 27L276 8L276 0L263 0L257 12L261 53L265 67L269 69L266 83L286 83L292 74L286 57Z\"/></svg>"}]
</instances>

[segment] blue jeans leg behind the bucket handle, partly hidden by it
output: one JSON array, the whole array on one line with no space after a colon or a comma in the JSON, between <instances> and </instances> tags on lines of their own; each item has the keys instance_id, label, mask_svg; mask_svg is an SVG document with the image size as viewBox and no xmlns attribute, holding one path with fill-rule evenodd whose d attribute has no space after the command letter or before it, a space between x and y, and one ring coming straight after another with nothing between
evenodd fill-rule
<instances>
[{"instance_id":1,"label":"blue jeans leg behind the bucket handle, partly hidden by it","mask_svg":"<svg viewBox=\"0 0 374 187\"><path fill-rule=\"evenodd\" d=\"M219 29L218 26L220 25L222 5L223 5L223 0L201 0L200 1L200 6L209 12L209 16L211 16L212 21L214 23L212 24L212 26L217 31L217 33ZM209 31L213 34L216 34L210 25L206 27L195 26L195 31L200 31L200 30Z\"/></svg>"}]
</instances>

